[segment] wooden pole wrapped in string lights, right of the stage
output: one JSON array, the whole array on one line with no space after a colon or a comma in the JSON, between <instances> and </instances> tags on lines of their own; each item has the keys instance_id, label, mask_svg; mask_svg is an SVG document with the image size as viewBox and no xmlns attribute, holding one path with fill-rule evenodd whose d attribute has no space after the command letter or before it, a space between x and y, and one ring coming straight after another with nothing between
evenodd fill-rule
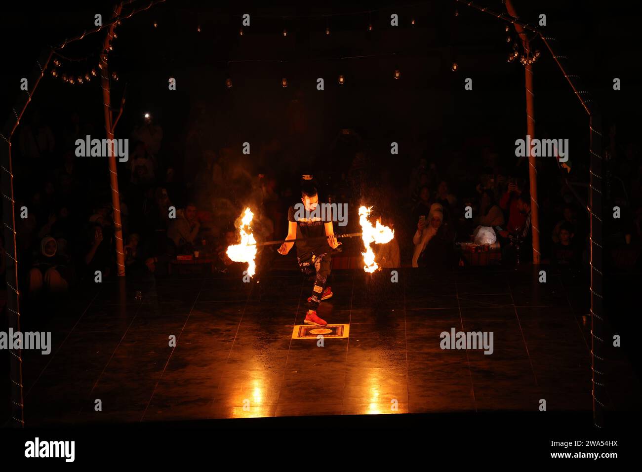
<instances>
[{"instance_id":1,"label":"wooden pole wrapped in string lights, right of the stage","mask_svg":"<svg viewBox=\"0 0 642 472\"><path fill-rule=\"evenodd\" d=\"M506 0L506 10L514 18L518 18L517 12L513 7L511 0ZM530 52L530 44L526 30L521 24L514 23L515 30L522 40L522 45L526 53ZM530 143L535 138L535 103L533 93L533 68L532 64L525 65L526 75L526 130L530 136ZM530 226L533 236L533 263L539 265L541 253L539 252L539 204L537 203L537 167L535 166L535 157L532 155L530 146L528 148L528 177L530 180Z\"/></svg>"}]
</instances>

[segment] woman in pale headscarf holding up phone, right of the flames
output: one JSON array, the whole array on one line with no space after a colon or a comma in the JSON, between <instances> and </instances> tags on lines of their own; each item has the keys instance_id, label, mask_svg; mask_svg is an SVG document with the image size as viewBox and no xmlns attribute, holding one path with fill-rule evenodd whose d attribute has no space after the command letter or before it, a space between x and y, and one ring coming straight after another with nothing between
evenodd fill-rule
<instances>
[{"instance_id":1,"label":"woman in pale headscarf holding up phone, right of the flames","mask_svg":"<svg viewBox=\"0 0 642 472\"><path fill-rule=\"evenodd\" d=\"M444 223L442 205L430 207L428 222L417 224L412 241L415 244L412 267L444 268L452 260L453 236Z\"/></svg>"}]
</instances>

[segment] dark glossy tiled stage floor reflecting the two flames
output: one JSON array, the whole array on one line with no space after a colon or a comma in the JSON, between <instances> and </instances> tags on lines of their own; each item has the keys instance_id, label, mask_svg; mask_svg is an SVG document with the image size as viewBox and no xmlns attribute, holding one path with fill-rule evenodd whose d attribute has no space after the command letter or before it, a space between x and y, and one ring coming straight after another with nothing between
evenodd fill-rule
<instances>
[{"instance_id":1,"label":"dark glossy tiled stage floor reflecting the two flames","mask_svg":"<svg viewBox=\"0 0 642 472\"><path fill-rule=\"evenodd\" d=\"M536 411L541 399L548 410L591 409L590 322L571 312L559 277L534 284L515 271L411 269L398 283L383 273L331 277L334 297L319 314L349 324L349 337L322 346L292 339L310 288L295 272L260 283L211 275L104 283L51 320L49 356L24 353L27 424ZM441 349L451 328L492 331L494 352ZM638 398L616 356L613 370Z\"/></svg>"}]
</instances>

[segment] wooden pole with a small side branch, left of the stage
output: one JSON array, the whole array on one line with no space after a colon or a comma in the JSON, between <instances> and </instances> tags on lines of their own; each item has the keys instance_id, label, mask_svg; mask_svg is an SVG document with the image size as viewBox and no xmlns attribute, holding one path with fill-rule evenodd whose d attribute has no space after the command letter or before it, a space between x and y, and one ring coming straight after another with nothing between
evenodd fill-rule
<instances>
[{"instance_id":1,"label":"wooden pole with a small side branch, left of the stage","mask_svg":"<svg viewBox=\"0 0 642 472\"><path fill-rule=\"evenodd\" d=\"M119 3L114 7L114 14L112 18L119 17L121 10L123 9L123 4ZM116 168L116 152L114 150L114 128L116 127L116 122L120 118L120 114L123 112L123 104L125 100L121 103L121 109L116 120L112 117L111 109L111 93L109 86L109 68L107 65L107 57L109 53L109 44L114 37L114 27L116 22L112 22L109 25L107 30L107 35L105 35L105 40L103 42L103 51L100 55L100 76L101 76L101 85L103 89L103 108L105 111L105 132L107 134L107 139L110 139L110 155L109 159L109 180L112 188L112 207L114 209L114 237L116 238L116 264L117 272L120 277L125 276L125 250L123 250L123 226L121 225L121 212L120 212L120 194L118 193L118 172Z\"/></svg>"}]
</instances>

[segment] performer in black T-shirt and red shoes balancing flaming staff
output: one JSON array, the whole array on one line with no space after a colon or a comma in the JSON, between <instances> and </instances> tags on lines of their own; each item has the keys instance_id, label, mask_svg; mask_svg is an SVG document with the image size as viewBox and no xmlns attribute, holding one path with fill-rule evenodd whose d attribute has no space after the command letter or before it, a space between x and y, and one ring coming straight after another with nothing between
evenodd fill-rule
<instances>
[{"instance_id":1,"label":"performer in black T-shirt and red shoes balancing flaming staff","mask_svg":"<svg viewBox=\"0 0 642 472\"><path fill-rule=\"evenodd\" d=\"M317 310L322 300L332 297L332 288L325 286L330 275L330 250L336 249L341 244L334 236L334 227L331 216L318 211L317 188L311 182L304 182L301 189L302 208L305 209L304 217L301 211L295 211L295 205L288 210L288 237L286 240L296 240L297 261L301 272L312 276L317 272L312 296L308 298L308 312L306 324L325 326L327 322L317 316ZM298 204L297 207L301 205ZM324 237L325 236L325 237ZM279 254L288 254L294 242L283 243L279 247Z\"/></svg>"}]
</instances>

